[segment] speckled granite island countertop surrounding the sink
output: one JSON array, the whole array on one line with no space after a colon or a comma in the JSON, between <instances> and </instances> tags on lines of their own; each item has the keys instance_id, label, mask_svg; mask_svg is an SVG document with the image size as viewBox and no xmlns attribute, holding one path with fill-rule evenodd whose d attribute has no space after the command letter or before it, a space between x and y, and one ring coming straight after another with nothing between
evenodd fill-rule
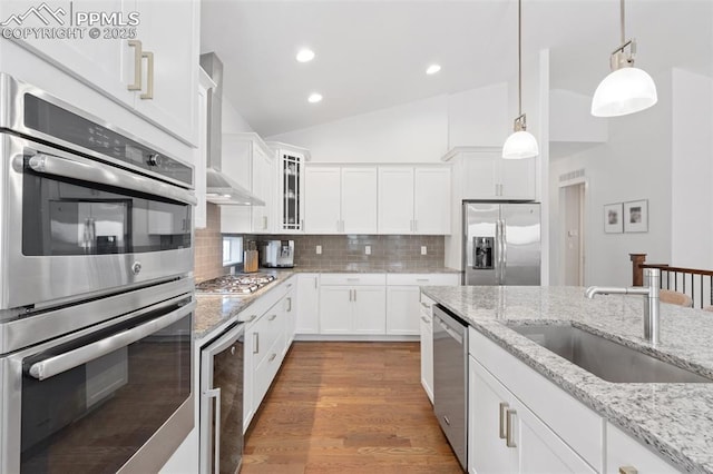
<instances>
[{"instance_id":1,"label":"speckled granite island countertop surrounding the sink","mask_svg":"<svg viewBox=\"0 0 713 474\"><path fill-rule=\"evenodd\" d=\"M682 471L713 473L713 383L611 383L504 323L570 322L713 378L713 314L661 305L661 343L643 338L643 297L584 297L579 287L423 287L473 328L619 426Z\"/></svg>"}]
</instances>

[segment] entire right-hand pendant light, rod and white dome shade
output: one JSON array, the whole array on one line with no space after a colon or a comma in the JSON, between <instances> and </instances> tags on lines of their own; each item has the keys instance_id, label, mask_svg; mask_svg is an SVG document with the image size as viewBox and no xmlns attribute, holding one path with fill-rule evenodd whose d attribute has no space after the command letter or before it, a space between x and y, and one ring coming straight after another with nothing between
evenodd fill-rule
<instances>
[{"instance_id":1,"label":"entire right-hand pendant light, rod and white dome shade","mask_svg":"<svg viewBox=\"0 0 713 474\"><path fill-rule=\"evenodd\" d=\"M621 0L622 46L609 57L612 72L599 82L592 98L592 115L619 117L647 109L658 100L656 85L644 70L634 67L636 40L624 34L624 0ZM624 50L628 47L629 52Z\"/></svg>"}]
</instances>

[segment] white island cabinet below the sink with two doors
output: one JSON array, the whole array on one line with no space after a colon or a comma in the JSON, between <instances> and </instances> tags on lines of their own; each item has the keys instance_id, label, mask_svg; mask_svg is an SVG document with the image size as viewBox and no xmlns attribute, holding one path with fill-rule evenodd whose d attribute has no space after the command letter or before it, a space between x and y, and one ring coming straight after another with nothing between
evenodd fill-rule
<instances>
[{"instance_id":1,"label":"white island cabinet below the sink with two doors","mask_svg":"<svg viewBox=\"0 0 713 474\"><path fill-rule=\"evenodd\" d=\"M603 418L472 327L468 338L469 471L602 472Z\"/></svg>"}]
</instances>

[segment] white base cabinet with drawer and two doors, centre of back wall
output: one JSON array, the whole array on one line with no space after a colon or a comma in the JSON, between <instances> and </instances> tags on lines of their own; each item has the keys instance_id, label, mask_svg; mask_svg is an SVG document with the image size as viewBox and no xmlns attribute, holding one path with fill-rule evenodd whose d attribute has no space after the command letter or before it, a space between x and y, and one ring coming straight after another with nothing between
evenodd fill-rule
<instances>
[{"instance_id":1,"label":"white base cabinet with drawer and two doors, centre of back wall","mask_svg":"<svg viewBox=\"0 0 713 474\"><path fill-rule=\"evenodd\" d=\"M324 274L320 280L321 334L385 334L384 275Z\"/></svg>"}]
</instances>

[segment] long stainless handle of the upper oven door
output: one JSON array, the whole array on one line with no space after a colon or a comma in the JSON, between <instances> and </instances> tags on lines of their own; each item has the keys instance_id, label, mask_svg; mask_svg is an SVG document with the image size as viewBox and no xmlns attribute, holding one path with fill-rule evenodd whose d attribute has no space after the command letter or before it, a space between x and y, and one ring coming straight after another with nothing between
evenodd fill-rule
<instances>
[{"instance_id":1,"label":"long stainless handle of the upper oven door","mask_svg":"<svg viewBox=\"0 0 713 474\"><path fill-rule=\"evenodd\" d=\"M30 158L29 166L35 171L46 175L99 182L101 185L130 189L153 196L166 197L192 206L198 203L189 191L176 186L79 157L69 159L47 154L37 154Z\"/></svg>"}]
</instances>

